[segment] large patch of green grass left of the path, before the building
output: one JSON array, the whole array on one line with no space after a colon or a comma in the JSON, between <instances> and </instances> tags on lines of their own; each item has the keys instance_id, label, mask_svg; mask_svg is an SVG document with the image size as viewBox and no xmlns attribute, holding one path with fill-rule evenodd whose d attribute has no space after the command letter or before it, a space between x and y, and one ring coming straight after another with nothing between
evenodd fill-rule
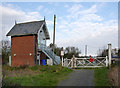
<instances>
[{"instance_id":1,"label":"large patch of green grass left of the path, before the building","mask_svg":"<svg viewBox=\"0 0 120 88\"><path fill-rule=\"evenodd\" d=\"M39 71L40 73L33 76L23 77L5 77L5 86L56 86L61 80L65 79L67 75L72 72L71 69L62 67L60 65L54 66L34 66L27 67L32 71ZM21 68L7 67L9 71L20 70ZM26 69L26 68L24 68Z\"/></svg>"}]
</instances>

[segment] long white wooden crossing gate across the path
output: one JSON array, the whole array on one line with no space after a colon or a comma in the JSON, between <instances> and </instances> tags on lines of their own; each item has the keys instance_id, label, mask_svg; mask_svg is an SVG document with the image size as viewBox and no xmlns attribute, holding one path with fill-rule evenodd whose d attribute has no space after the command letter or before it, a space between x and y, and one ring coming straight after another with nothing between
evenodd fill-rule
<instances>
[{"instance_id":1,"label":"long white wooden crossing gate across the path","mask_svg":"<svg viewBox=\"0 0 120 88\"><path fill-rule=\"evenodd\" d=\"M90 58L76 58L64 59L63 66L71 68L96 68L96 67L107 67L108 57L94 57L93 61L89 61Z\"/></svg>"}]
</instances>

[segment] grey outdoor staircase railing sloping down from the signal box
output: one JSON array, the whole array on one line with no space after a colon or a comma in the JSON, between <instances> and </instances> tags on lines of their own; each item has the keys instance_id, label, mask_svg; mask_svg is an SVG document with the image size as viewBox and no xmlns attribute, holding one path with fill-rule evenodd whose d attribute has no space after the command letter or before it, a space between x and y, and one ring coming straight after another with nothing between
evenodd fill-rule
<instances>
[{"instance_id":1,"label":"grey outdoor staircase railing sloping down from the signal box","mask_svg":"<svg viewBox=\"0 0 120 88\"><path fill-rule=\"evenodd\" d=\"M41 44L40 46L38 46L39 50L42 50L45 54L47 54L47 56L50 59L53 59L54 64L59 64L60 63L60 57L57 56L50 47Z\"/></svg>"}]
</instances>

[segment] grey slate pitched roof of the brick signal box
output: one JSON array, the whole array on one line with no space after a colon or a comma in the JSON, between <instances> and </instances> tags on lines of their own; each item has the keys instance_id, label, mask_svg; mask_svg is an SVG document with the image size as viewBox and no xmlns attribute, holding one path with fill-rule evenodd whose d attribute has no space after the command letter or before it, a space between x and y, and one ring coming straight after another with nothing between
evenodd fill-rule
<instances>
[{"instance_id":1,"label":"grey slate pitched roof of the brick signal box","mask_svg":"<svg viewBox=\"0 0 120 88\"><path fill-rule=\"evenodd\" d=\"M37 34L42 26L44 27L43 30L45 32L46 39L50 39L45 20L15 24L6 36Z\"/></svg>"}]
</instances>

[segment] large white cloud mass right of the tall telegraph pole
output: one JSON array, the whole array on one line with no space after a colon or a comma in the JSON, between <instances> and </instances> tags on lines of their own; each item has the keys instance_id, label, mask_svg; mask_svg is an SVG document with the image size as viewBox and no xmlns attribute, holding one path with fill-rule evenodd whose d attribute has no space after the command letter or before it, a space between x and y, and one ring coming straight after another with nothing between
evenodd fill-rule
<instances>
[{"instance_id":1,"label":"large white cloud mass right of the tall telegraph pole","mask_svg":"<svg viewBox=\"0 0 120 88\"><path fill-rule=\"evenodd\" d=\"M118 46L117 20L104 20L97 14L98 5L82 10L74 10L73 7L75 9L77 5L68 8L67 20L59 17L60 23L56 33L60 36L56 39L58 46L76 46L84 53L84 46L88 45L89 54L97 54L97 50L103 46L107 47L108 43L112 43L113 47ZM71 12L71 9L74 11Z\"/></svg>"}]
</instances>

